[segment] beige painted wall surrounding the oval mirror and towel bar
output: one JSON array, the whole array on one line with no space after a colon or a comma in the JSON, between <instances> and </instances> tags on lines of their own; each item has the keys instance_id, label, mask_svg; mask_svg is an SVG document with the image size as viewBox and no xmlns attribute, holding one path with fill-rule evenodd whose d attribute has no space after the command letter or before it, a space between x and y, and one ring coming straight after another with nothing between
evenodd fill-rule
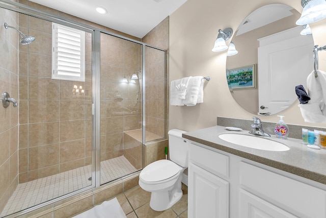
<instances>
[{"instance_id":1,"label":"beige painted wall surrounding the oval mirror and towel bar","mask_svg":"<svg viewBox=\"0 0 326 218\"><path fill-rule=\"evenodd\" d=\"M239 23L257 8L273 3L284 3L302 12L301 1L213 1L188 0L170 16L169 67L170 81L187 76L210 76L204 85L204 103L193 107L170 106L169 129L191 131L216 125L216 117L251 119L253 114L243 110L228 89L225 67L226 51L211 51L219 29L236 30ZM232 11L232 12L231 12ZM229 13L231 12L231 13ZM314 43L323 46L326 20L310 25ZM229 44L230 41L227 41ZM311 63L313 64L313 63ZM319 69L326 70L326 52L319 52ZM293 87L294 89L294 87ZM298 101L279 113L289 124L325 127L325 124L305 123ZM261 116L263 121L277 122L275 115Z\"/></svg>"}]
</instances>

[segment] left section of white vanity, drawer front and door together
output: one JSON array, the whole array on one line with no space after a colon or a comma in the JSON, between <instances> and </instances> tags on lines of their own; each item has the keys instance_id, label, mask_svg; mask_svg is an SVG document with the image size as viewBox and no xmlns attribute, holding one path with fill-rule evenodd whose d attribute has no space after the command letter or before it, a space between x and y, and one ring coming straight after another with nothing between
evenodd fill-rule
<instances>
[{"instance_id":1,"label":"left section of white vanity, drawer front and door together","mask_svg":"<svg viewBox=\"0 0 326 218\"><path fill-rule=\"evenodd\" d=\"M188 217L229 217L229 157L194 144L189 151Z\"/></svg>"}]
</instances>

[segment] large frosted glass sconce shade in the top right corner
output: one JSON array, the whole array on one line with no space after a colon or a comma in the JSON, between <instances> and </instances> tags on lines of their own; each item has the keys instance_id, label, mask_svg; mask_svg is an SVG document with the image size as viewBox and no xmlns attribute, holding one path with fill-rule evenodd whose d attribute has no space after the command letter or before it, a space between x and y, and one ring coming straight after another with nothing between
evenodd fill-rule
<instances>
[{"instance_id":1,"label":"large frosted glass sconce shade in the top right corner","mask_svg":"<svg viewBox=\"0 0 326 218\"><path fill-rule=\"evenodd\" d=\"M296 25L306 25L326 18L325 0L302 0L301 17L295 22Z\"/></svg>"}]
</instances>

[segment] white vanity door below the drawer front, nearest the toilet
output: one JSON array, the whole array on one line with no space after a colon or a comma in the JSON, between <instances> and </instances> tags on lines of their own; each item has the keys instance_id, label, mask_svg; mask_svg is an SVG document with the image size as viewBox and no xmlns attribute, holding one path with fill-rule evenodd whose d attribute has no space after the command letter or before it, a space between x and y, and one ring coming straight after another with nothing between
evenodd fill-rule
<instances>
[{"instance_id":1,"label":"white vanity door below the drawer front, nearest the toilet","mask_svg":"<svg viewBox=\"0 0 326 218\"><path fill-rule=\"evenodd\" d=\"M189 163L188 217L229 217L229 183Z\"/></svg>"}]
</instances>

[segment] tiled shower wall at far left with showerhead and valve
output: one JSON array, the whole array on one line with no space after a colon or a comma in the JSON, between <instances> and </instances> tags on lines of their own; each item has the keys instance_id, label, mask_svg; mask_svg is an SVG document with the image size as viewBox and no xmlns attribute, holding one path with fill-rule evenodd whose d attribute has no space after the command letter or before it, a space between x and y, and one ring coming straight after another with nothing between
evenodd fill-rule
<instances>
[{"instance_id":1,"label":"tiled shower wall at far left with showerhead and valve","mask_svg":"<svg viewBox=\"0 0 326 218\"><path fill-rule=\"evenodd\" d=\"M18 27L18 14L0 8L0 94L18 100L18 34L4 23ZM18 107L0 104L0 211L18 185Z\"/></svg>"}]
</instances>

